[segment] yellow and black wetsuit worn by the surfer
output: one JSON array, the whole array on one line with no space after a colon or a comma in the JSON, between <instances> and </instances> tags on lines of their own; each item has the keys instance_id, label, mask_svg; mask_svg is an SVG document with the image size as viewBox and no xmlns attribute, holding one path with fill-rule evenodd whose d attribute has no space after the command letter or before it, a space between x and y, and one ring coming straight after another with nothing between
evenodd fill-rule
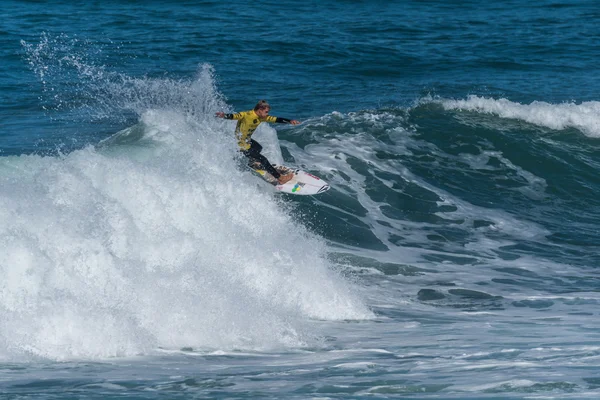
<instances>
[{"instance_id":1,"label":"yellow and black wetsuit worn by the surfer","mask_svg":"<svg viewBox=\"0 0 600 400\"><path fill-rule=\"evenodd\" d=\"M265 118L261 118L254 110L242 111L235 114L225 114L225 119L235 119L238 121L235 127L235 135L240 146L240 151L249 159L248 165L254 169L264 169L276 179L279 179L281 174L273 168L267 157L260 154L262 146L256 141L252 140L252 134L258 128L261 122L277 122L277 123L289 123L291 120L287 118L274 117L267 115Z\"/></svg>"}]
</instances>

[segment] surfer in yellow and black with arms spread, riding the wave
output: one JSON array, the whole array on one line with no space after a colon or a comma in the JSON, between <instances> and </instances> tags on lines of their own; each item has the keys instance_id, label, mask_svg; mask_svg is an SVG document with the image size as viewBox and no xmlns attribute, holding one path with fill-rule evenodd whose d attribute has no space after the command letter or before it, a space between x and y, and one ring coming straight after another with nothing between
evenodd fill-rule
<instances>
[{"instance_id":1,"label":"surfer in yellow and black with arms spread, riding the wave","mask_svg":"<svg viewBox=\"0 0 600 400\"><path fill-rule=\"evenodd\" d=\"M252 134L258 128L261 122L276 122L281 124L292 124L298 125L300 121L295 119L287 119L274 117L269 115L271 106L266 100L259 101L253 110L242 111L234 114L225 114L224 112L216 113L219 118L235 119L238 123L235 127L235 135L238 139L238 145L243 155L248 157L248 165L253 169L264 169L277 179L280 185L288 182L294 174L288 173L281 175L267 160L267 157L263 156L260 152L262 146L254 139L251 138Z\"/></svg>"}]
</instances>

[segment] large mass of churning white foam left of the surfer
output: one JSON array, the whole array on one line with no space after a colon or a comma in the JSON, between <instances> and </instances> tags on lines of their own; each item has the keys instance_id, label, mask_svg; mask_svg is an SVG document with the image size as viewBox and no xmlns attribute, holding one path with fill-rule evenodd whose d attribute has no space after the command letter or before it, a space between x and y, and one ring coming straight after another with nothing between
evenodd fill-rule
<instances>
[{"instance_id":1,"label":"large mass of churning white foam left of the surfer","mask_svg":"<svg viewBox=\"0 0 600 400\"><path fill-rule=\"evenodd\" d=\"M187 88L202 112L147 109L139 141L1 161L0 354L297 347L309 319L372 316L322 239L238 172L207 73Z\"/></svg>"}]
</instances>

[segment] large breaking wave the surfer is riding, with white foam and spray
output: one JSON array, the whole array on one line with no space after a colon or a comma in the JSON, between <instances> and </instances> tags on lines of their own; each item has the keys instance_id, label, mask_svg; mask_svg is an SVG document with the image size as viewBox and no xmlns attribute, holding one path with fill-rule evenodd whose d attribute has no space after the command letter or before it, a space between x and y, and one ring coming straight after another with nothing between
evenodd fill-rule
<instances>
[{"instance_id":1,"label":"large breaking wave the surfer is riding, with white foam and spray","mask_svg":"<svg viewBox=\"0 0 600 400\"><path fill-rule=\"evenodd\" d=\"M56 57L44 46L31 48L40 55L32 62ZM70 60L63 66L82 65ZM574 162L540 167L562 159L560 143L534 146L533 135L506 134L513 124L494 117L480 129L438 105L332 112L294 127L289 142L285 128L279 135L286 160L332 190L283 201L240 172L234 122L213 117L229 107L212 67L190 81L86 65L94 113L133 113L136 124L61 157L0 161L0 217L12 221L0 228L0 357L314 346L320 331L311 320L372 318L364 298L417 314L426 306L407 297L418 293L444 307L463 307L465 298L500 307L515 290L536 296L581 285L548 283L588 262L552 238L565 226L581 230L563 222L564 209L585 214L569 202L568 185L564 197L555 190L575 181L556 181ZM554 111L563 105L427 102L500 119L538 115L531 123L545 127L562 121ZM541 117L544 107L550 115ZM283 159L272 128L257 135L270 159ZM386 281L363 291L340 267Z\"/></svg>"}]
</instances>

